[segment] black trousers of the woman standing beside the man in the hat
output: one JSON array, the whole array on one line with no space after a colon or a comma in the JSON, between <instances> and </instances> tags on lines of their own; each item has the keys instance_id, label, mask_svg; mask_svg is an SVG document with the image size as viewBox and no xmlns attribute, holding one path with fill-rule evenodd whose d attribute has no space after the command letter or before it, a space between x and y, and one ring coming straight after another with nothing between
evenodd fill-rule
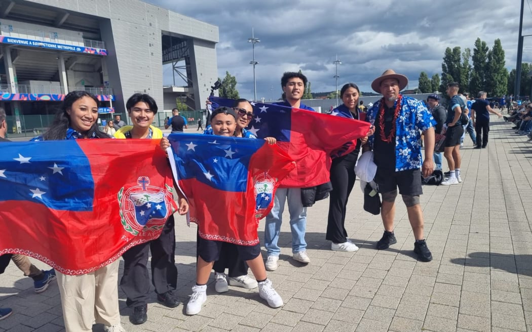
<instances>
[{"instance_id":1,"label":"black trousers of the woman standing beside the man in the hat","mask_svg":"<svg viewBox=\"0 0 532 332\"><path fill-rule=\"evenodd\" d=\"M345 214L347 199L355 184L355 163L356 160L353 158L340 157L332 160L330 170L332 191L329 197L329 217L325 239L334 243L347 241Z\"/></svg>"}]
</instances>

